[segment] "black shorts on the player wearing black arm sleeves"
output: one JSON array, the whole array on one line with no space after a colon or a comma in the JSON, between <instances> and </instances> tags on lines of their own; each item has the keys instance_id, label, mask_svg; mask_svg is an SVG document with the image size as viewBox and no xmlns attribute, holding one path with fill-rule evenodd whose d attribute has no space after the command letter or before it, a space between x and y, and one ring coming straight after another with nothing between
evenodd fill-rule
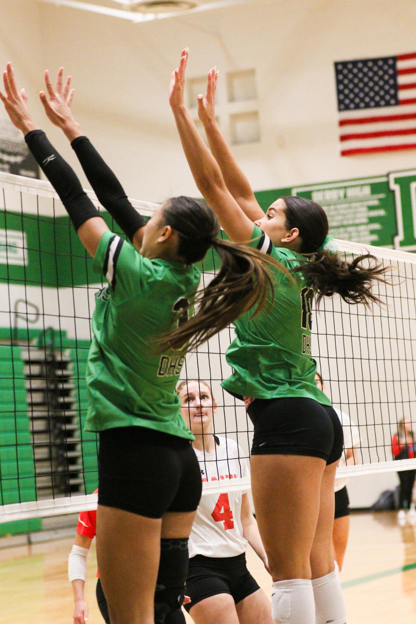
<instances>
[{"instance_id":1,"label":"black shorts on the player wearing black arm sleeves","mask_svg":"<svg viewBox=\"0 0 416 624\"><path fill-rule=\"evenodd\" d=\"M201 470L191 442L146 427L100 431L99 505L147 518L195 511Z\"/></svg>"}]
</instances>

